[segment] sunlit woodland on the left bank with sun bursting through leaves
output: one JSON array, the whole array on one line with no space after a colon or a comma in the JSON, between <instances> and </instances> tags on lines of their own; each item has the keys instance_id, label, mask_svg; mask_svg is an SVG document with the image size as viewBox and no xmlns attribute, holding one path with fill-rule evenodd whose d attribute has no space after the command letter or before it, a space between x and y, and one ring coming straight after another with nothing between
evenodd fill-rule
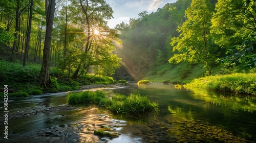
<instances>
[{"instance_id":1,"label":"sunlit woodland on the left bank with sun bursting through leaves","mask_svg":"<svg viewBox=\"0 0 256 143\"><path fill-rule=\"evenodd\" d=\"M61 7L55 11L54 29L51 30L48 29L50 17L45 12L45 8L55 9L50 7L50 2L1 1L0 56L1 60L8 61L1 64L1 81L11 86L39 82L45 92L77 89L77 84L70 85L72 88L59 84L66 81L92 83L88 78L80 79L88 73L103 76L93 77L97 84L114 83L112 78L106 77L114 74L121 59L113 53L112 41L120 43L117 31L109 28L106 21L113 18L110 5L105 1L77 0L67 5L59 1L57 5ZM46 36L48 33L50 35ZM23 63L24 67L17 63ZM31 63L38 65L32 69ZM56 75L48 73L50 66L57 71Z\"/></svg>"}]
</instances>

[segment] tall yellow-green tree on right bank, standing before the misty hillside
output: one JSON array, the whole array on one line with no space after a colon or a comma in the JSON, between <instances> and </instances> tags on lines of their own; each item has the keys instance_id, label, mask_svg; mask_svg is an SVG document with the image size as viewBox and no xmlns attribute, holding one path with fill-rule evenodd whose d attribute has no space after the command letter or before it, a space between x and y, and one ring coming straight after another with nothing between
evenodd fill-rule
<instances>
[{"instance_id":1,"label":"tall yellow-green tree on right bank, standing before the misty hillside","mask_svg":"<svg viewBox=\"0 0 256 143\"><path fill-rule=\"evenodd\" d=\"M169 62L179 63L188 61L190 63L205 63L206 75L210 75L210 26L212 6L208 0L193 0L185 11L187 20L183 22L178 31L179 37L172 38L174 54Z\"/></svg>"}]
</instances>

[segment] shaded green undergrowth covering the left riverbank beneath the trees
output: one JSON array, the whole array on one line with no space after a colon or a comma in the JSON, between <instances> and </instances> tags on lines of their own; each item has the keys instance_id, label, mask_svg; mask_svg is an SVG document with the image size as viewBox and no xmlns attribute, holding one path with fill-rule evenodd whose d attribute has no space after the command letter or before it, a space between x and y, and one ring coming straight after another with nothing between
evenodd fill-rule
<instances>
[{"instance_id":1,"label":"shaded green undergrowth covering the left riverbank beneath the trees","mask_svg":"<svg viewBox=\"0 0 256 143\"><path fill-rule=\"evenodd\" d=\"M94 74L80 76L77 81L74 81L69 79L67 75L61 74L61 71L59 71L57 67L50 67L52 86L43 91L38 84L40 70L41 65L39 64L28 63L24 67L21 63L1 60L0 88L3 88L4 85L8 85L9 97L26 97L46 92L78 90L81 85L114 83L114 79L112 77ZM3 95L4 94L1 93L0 98L3 98Z\"/></svg>"}]
</instances>

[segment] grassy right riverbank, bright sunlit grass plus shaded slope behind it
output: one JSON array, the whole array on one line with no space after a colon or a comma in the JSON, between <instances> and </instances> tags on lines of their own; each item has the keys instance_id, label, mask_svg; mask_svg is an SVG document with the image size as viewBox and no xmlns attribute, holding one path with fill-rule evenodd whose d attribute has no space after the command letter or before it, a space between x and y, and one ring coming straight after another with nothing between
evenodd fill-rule
<instances>
[{"instance_id":1,"label":"grassy right riverbank, bright sunlit grass plus shaded slope behind it","mask_svg":"<svg viewBox=\"0 0 256 143\"><path fill-rule=\"evenodd\" d=\"M180 63L173 66L166 63L148 71L143 80L183 84L188 89L198 88L211 91L256 94L256 68L235 67L226 69L220 66L212 69L212 75L214 76L208 77L205 77L204 72L205 69L200 64Z\"/></svg>"}]
</instances>

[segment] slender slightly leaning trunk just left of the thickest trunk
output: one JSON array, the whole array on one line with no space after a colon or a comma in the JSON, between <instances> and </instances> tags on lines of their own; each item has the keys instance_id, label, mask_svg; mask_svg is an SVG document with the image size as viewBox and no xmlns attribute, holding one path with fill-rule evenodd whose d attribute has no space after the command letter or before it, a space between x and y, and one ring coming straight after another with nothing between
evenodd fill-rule
<instances>
[{"instance_id":1,"label":"slender slightly leaning trunk just left of the thickest trunk","mask_svg":"<svg viewBox=\"0 0 256 143\"><path fill-rule=\"evenodd\" d=\"M23 66L26 66L28 55L29 55L29 43L30 43L31 23L32 23L32 14L33 14L32 13L33 12L33 4L34 4L33 0L30 0L29 25L28 25L28 32L27 32L27 38L26 38Z\"/></svg>"}]
</instances>

